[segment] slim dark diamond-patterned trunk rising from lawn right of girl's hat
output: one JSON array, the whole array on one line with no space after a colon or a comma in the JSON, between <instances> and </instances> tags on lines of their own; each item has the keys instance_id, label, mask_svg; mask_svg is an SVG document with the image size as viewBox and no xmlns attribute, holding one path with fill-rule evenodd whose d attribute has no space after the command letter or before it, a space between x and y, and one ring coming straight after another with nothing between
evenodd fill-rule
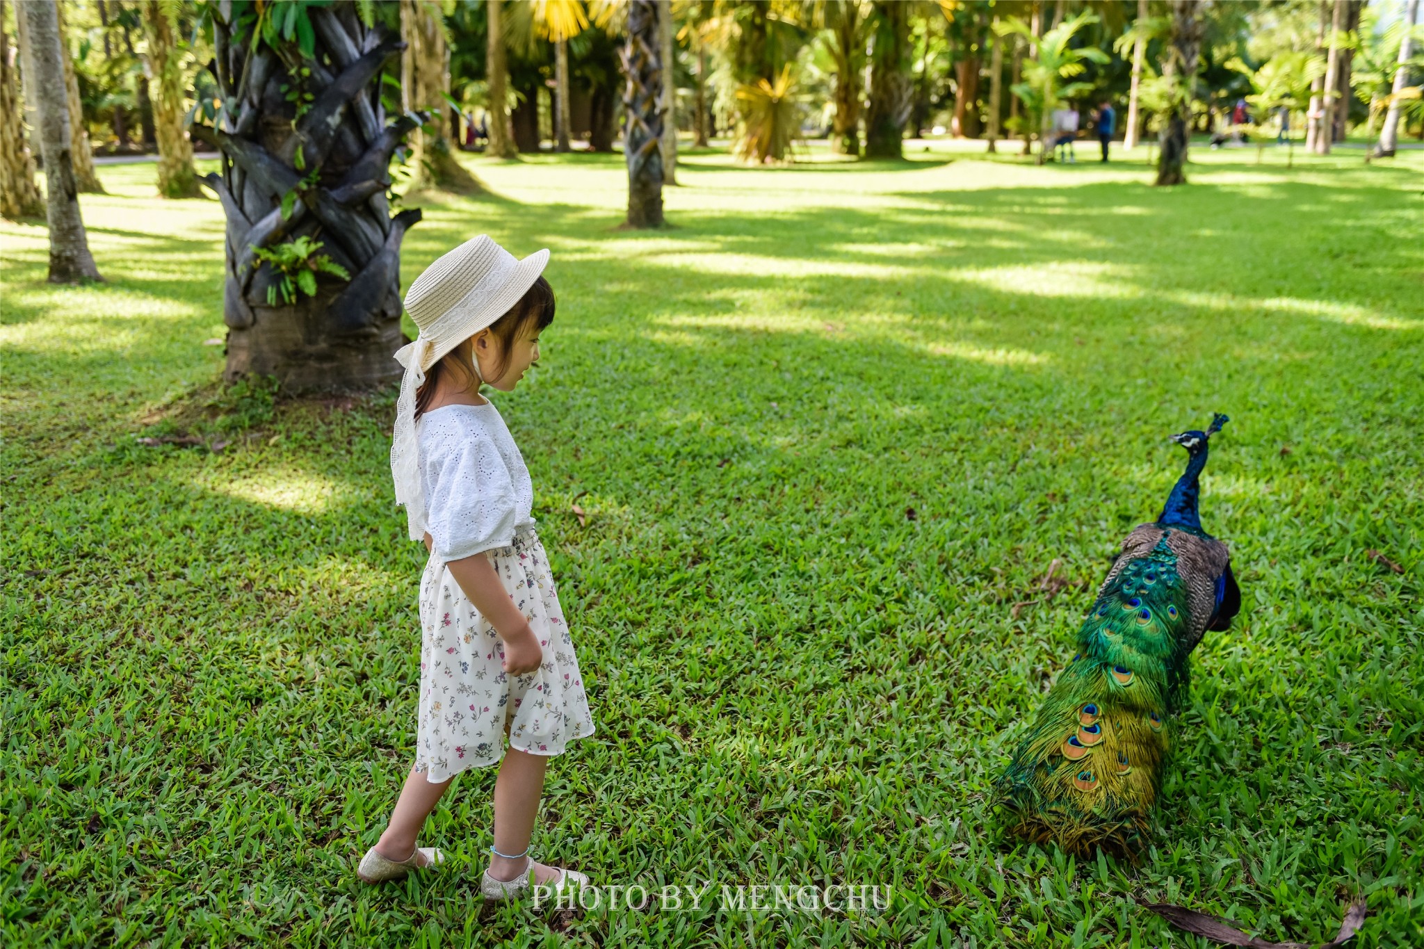
<instances>
[{"instance_id":1,"label":"slim dark diamond-patterned trunk rising from lawn right of girl's hat","mask_svg":"<svg viewBox=\"0 0 1424 949\"><path fill-rule=\"evenodd\" d=\"M628 226L662 226L662 4L629 0L624 75Z\"/></svg>"}]
</instances>

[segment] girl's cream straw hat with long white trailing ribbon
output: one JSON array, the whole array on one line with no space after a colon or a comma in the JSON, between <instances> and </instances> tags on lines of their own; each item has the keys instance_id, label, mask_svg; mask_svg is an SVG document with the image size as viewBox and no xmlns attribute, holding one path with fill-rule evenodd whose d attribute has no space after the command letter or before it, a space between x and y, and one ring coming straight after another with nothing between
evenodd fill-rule
<instances>
[{"instance_id":1,"label":"girl's cream straw hat with long white trailing ribbon","mask_svg":"<svg viewBox=\"0 0 1424 949\"><path fill-rule=\"evenodd\" d=\"M426 531L426 501L416 442L416 393L426 381L426 370L508 313L534 286L547 263L547 249L518 260L481 233L436 259L406 292L406 310L420 327L420 334L396 351L406 374L400 380L400 397L396 400L390 477L396 485L396 504L406 505L412 541L422 539ZM478 364L474 371L480 373Z\"/></svg>"}]
</instances>

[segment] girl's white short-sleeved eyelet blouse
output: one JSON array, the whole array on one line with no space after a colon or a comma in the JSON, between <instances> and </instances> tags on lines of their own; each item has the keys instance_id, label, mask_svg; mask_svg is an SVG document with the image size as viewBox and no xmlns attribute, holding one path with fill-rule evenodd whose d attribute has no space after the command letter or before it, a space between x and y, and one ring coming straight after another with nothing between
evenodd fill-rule
<instances>
[{"instance_id":1,"label":"girl's white short-sleeved eyelet blouse","mask_svg":"<svg viewBox=\"0 0 1424 949\"><path fill-rule=\"evenodd\" d=\"M530 471L493 403L430 410L416 437L431 553L459 561L534 528Z\"/></svg>"}]
</instances>

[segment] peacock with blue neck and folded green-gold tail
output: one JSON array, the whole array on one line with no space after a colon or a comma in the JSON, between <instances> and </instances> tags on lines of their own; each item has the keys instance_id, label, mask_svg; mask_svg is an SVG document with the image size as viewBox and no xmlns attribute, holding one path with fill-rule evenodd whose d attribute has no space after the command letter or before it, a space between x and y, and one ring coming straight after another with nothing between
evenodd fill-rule
<instances>
[{"instance_id":1,"label":"peacock with blue neck and folded green-gold tail","mask_svg":"<svg viewBox=\"0 0 1424 949\"><path fill-rule=\"evenodd\" d=\"M1135 855L1188 691L1188 656L1206 630L1240 609L1227 548L1198 515L1210 437L1186 431L1186 471L1155 524L1136 526L1078 633L1078 654L1044 699L1028 736L998 778L1011 832L1074 854Z\"/></svg>"}]
</instances>

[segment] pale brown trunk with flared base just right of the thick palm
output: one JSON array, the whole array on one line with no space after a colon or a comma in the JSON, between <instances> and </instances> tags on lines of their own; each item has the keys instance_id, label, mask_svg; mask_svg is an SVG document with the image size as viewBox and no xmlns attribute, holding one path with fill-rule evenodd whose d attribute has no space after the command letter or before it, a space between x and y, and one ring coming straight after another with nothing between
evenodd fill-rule
<instances>
[{"instance_id":1,"label":"pale brown trunk with flared base just right of the thick palm","mask_svg":"<svg viewBox=\"0 0 1424 949\"><path fill-rule=\"evenodd\" d=\"M407 112L430 112L430 121L410 135L412 191L444 188L468 193L480 182L456 158L450 127L450 47L444 37L440 4L431 0L400 0L400 98Z\"/></svg>"}]
</instances>

